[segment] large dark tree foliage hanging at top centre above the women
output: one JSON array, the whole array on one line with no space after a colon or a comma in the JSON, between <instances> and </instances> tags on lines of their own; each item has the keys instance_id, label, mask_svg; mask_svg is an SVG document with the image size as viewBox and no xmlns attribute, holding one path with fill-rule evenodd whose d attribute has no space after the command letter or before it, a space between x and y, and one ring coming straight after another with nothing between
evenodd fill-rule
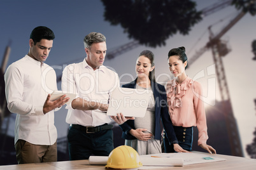
<instances>
[{"instance_id":1,"label":"large dark tree foliage hanging at top centre above the women","mask_svg":"<svg viewBox=\"0 0 256 170\"><path fill-rule=\"evenodd\" d=\"M129 38L150 47L166 44L177 32L187 35L202 20L196 3L190 0L101 0L104 19L120 24Z\"/></svg>"}]
</instances>

